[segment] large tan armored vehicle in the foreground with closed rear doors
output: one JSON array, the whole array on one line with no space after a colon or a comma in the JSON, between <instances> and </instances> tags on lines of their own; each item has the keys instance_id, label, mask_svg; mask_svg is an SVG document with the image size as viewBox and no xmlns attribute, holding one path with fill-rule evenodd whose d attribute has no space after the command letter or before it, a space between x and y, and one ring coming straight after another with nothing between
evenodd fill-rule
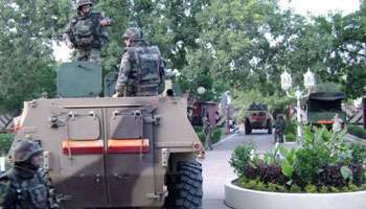
<instances>
[{"instance_id":1,"label":"large tan armored vehicle in the foreground with closed rear doors","mask_svg":"<svg viewBox=\"0 0 366 209\"><path fill-rule=\"evenodd\" d=\"M58 97L24 102L15 131L45 150L62 208L201 208L202 145L185 98L98 97L98 63L57 73Z\"/></svg>"}]
</instances>

